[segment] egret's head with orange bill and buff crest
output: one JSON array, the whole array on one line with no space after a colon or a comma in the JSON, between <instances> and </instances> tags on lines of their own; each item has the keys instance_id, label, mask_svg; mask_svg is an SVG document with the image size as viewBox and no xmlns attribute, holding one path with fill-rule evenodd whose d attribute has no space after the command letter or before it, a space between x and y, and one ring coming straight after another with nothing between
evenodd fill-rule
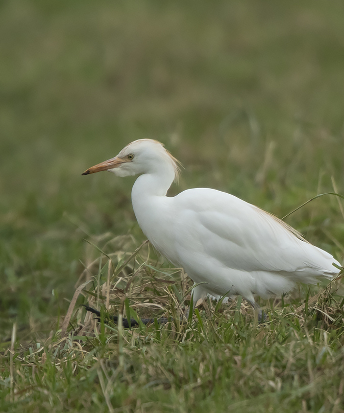
<instances>
[{"instance_id":1,"label":"egret's head with orange bill and buff crest","mask_svg":"<svg viewBox=\"0 0 344 413\"><path fill-rule=\"evenodd\" d=\"M117 176L130 176L159 173L161 168L170 168L177 178L180 166L179 161L160 142L152 139L139 139L127 145L114 158L88 168L82 175L109 171Z\"/></svg>"}]
</instances>

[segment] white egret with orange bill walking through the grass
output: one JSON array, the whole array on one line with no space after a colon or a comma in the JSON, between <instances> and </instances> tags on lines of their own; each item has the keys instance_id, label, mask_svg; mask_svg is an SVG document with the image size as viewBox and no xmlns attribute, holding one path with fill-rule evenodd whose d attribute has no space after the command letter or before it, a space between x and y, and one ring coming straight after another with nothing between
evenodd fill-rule
<instances>
[{"instance_id":1,"label":"white egret with orange bill walking through the grass","mask_svg":"<svg viewBox=\"0 0 344 413\"><path fill-rule=\"evenodd\" d=\"M194 304L207 294L215 299L241 295L255 306L254 294L281 294L296 282L314 284L318 277L330 279L339 272L332 255L233 195L194 188L166 196L180 164L160 142L134 141L83 175L105 170L140 175L131 193L138 224L153 246L194 282Z\"/></svg>"}]
</instances>

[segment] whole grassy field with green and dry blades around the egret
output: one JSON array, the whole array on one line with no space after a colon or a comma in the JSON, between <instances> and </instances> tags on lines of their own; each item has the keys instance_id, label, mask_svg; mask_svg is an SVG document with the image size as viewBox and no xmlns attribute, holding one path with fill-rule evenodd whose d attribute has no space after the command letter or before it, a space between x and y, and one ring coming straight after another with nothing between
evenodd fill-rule
<instances>
[{"instance_id":1,"label":"whole grassy field with green and dry blades around the egret","mask_svg":"<svg viewBox=\"0 0 344 413\"><path fill-rule=\"evenodd\" d=\"M171 195L211 187L283 217L343 194L343 12L1 3L1 411L344 411L340 278L260 301L263 325L240 297L177 322L190 282L144 243L134 178L81 176L150 137L185 166ZM342 262L343 206L324 196L286 221ZM108 311L175 321L125 330Z\"/></svg>"}]
</instances>

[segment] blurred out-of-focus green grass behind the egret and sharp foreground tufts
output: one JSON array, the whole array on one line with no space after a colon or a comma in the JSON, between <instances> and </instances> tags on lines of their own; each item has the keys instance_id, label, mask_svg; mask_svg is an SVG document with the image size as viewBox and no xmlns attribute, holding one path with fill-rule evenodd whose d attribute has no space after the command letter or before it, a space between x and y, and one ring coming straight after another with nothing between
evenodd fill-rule
<instances>
[{"instance_id":1,"label":"blurred out-of-focus green grass behind the egret and sharp foreground tufts","mask_svg":"<svg viewBox=\"0 0 344 413\"><path fill-rule=\"evenodd\" d=\"M81 176L133 140L184 164L171 194L213 187L281 217L343 192L339 0L11 0L0 36L3 339L64 314L84 238L144 239L133 179ZM336 198L287 221L342 260Z\"/></svg>"}]
</instances>

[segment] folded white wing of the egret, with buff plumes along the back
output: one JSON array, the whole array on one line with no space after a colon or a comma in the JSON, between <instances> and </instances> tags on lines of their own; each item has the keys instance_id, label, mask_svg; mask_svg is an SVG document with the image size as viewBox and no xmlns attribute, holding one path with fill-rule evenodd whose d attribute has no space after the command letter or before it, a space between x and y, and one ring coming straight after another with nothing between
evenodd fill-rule
<instances>
[{"instance_id":1,"label":"folded white wing of the egret, with buff plumes along the back","mask_svg":"<svg viewBox=\"0 0 344 413\"><path fill-rule=\"evenodd\" d=\"M199 188L175 197L178 242L243 271L336 273L333 257L278 218L233 195ZM183 236L181 236L183 234Z\"/></svg>"}]
</instances>

